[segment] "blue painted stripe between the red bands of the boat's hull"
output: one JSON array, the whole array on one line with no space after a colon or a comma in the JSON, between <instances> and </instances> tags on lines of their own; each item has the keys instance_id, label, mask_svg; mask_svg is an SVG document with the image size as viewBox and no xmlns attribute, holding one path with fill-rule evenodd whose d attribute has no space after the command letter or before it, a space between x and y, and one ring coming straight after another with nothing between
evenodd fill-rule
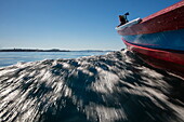
<instances>
[{"instance_id":1,"label":"blue painted stripe between the red bands of the boat's hull","mask_svg":"<svg viewBox=\"0 0 184 122\"><path fill-rule=\"evenodd\" d=\"M145 48L184 51L184 29L122 36L122 38L130 43Z\"/></svg>"}]
</instances>

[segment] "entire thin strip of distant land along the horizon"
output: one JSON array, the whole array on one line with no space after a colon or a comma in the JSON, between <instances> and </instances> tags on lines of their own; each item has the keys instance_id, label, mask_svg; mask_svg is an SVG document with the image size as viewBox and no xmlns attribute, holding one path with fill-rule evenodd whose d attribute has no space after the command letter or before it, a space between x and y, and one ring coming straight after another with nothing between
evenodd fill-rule
<instances>
[{"instance_id":1,"label":"entire thin strip of distant land along the horizon","mask_svg":"<svg viewBox=\"0 0 184 122\"><path fill-rule=\"evenodd\" d=\"M32 50L32 49L5 49L0 52L113 52L113 51L101 51L101 50L81 50L81 51L69 51L69 50Z\"/></svg>"}]
</instances>

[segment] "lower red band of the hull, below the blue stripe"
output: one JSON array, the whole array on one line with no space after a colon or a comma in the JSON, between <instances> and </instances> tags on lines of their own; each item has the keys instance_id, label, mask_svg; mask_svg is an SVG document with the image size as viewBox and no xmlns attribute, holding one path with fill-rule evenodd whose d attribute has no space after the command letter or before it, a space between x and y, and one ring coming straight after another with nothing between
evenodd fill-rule
<instances>
[{"instance_id":1,"label":"lower red band of the hull, below the blue stripe","mask_svg":"<svg viewBox=\"0 0 184 122\"><path fill-rule=\"evenodd\" d=\"M169 51L160 51L124 41L127 48L137 54L148 65L168 70L184 78L184 54Z\"/></svg>"}]
</instances>

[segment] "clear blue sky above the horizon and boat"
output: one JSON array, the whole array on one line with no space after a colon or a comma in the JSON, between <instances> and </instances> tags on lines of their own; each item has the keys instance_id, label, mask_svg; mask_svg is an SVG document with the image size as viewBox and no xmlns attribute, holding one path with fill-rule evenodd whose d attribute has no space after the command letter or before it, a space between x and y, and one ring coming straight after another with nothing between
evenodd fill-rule
<instances>
[{"instance_id":1,"label":"clear blue sky above the horizon and boat","mask_svg":"<svg viewBox=\"0 0 184 122\"><path fill-rule=\"evenodd\" d=\"M181 0L0 0L0 49L121 50L118 15L146 17Z\"/></svg>"}]
</instances>

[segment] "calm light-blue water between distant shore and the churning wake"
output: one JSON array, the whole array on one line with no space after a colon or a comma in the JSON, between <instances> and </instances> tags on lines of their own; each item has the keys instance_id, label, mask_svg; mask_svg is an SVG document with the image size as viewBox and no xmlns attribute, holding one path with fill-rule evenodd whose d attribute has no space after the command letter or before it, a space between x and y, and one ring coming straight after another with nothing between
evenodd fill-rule
<instances>
[{"instance_id":1,"label":"calm light-blue water between distant shore and the churning wake","mask_svg":"<svg viewBox=\"0 0 184 122\"><path fill-rule=\"evenodd\" d=\"M70 51L70 52L0 52L0 67L17 63L57 58L78 58L82 56L103 55L109 51Z\"/></svg>"}]
</instances>

